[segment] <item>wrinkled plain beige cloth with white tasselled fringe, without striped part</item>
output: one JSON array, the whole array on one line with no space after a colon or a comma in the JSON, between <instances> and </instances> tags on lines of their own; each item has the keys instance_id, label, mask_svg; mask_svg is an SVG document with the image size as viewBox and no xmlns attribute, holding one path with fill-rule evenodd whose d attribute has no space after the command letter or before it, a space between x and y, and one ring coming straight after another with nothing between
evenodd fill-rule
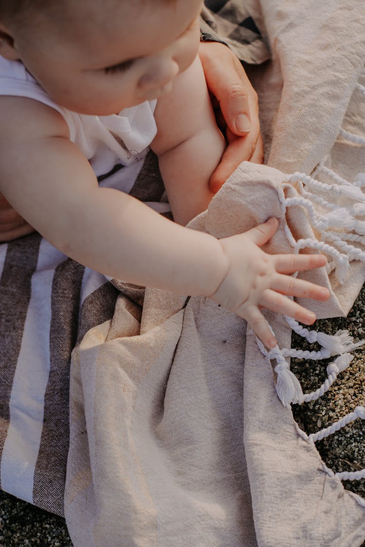
<instances>
[{"instance_id":1,"label":"wrinkled plain beige cloth with white tasselled fringe, without striped part","mask_svg":"<svg viewBox=\"0 0 365 547\"><path fill-rule=\"evenodd\" d=\"M251 74L269 166L241 164L189 227L225 237L275 216L268 251L291 252L285 226L296 240L320 234L302 206L283 211L283 188L298 195L288 174L323 159L350 181L365 170L363 146L338 137L341 126L365 129L364 2L252 5L273 53ZM335 317L349 311L364 267L352 261L342 285L325 268L303 277L331 289L309 307ZM74 543L360 545L365 508L299 435L246 323L206 298L119 289L113 318L73 353L65 511ZM285 320L267 317L290 347Z\"/></svg>"}]
</instances>

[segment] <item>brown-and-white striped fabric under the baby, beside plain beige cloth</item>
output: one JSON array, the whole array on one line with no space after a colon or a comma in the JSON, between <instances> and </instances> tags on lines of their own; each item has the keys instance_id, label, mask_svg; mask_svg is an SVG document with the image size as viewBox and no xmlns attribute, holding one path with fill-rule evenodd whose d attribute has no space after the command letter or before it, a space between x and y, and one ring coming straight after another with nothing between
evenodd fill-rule
<instances>
[{"instance_id":1,"label":"brown-and-white striped fabric under the baby, beside plain beige cloth","mask_svg":"<svg viewBox=\"0 0 365 547\"><path fill-rule=\"evenodd\" d=\"M152 152L99 182L170 215ZM0 486L63 515L71 352L111 319L119 290L39 234L0 245L0 272Z\"/></svg>"}]
</instances>

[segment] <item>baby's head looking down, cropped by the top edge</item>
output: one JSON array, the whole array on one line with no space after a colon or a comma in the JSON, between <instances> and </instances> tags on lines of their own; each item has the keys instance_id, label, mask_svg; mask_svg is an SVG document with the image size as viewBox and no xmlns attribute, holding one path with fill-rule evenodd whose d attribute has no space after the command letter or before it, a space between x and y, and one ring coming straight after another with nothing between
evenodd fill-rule
<instances>
[{"instance_id":1,"label":"baby's head looking down, cropped by the top edge","mask_svg":"<svg viewBox=\"0 0 365 547\"><path fill-rule=\"evenodd\" d=\"M163 95L194 60L201 0L0 0L0 55L61 106L108 115Z\"/></svg>"}]
</instances>

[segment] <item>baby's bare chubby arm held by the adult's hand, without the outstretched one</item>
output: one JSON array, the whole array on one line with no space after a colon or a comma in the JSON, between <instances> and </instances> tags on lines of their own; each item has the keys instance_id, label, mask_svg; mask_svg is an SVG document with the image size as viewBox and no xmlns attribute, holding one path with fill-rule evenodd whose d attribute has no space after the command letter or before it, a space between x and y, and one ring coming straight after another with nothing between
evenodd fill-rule
<instances>
[{"instance_id":1,"label":"baby's bare chubby arm held by the adult's hand, without the outstretched one","mask_svg":"<svg viewBox=\"0 0 365 547\"><path fill-rule=\"evenodd\" d=\"M213 193L210 177L227 146L213 113L199 57L157 102L157 136L151 148L175 222L186 225L204 211Z\"/></svg>"}]
</instances>

